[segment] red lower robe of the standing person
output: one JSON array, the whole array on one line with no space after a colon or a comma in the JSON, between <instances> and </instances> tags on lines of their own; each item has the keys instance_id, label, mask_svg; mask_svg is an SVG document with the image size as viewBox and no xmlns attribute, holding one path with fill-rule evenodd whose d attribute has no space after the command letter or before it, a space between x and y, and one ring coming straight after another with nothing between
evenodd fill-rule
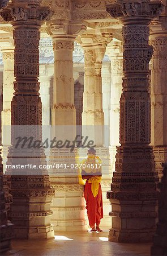
<instances>
[{"instance_id":1,"label":"red lower robe of the standing person","mask_svg":"<svg viewBox=\"0 0 167 256\"><path fill-rule=\"evenodd\" d=\"M99 183L99 192L97 196L93 196L92 183L86 181L84 187L84 198L86 201L86 209L88 214L89 226L93 228L95 224L99 226L101 218L103 218L103 209L102 209L102 191L101 185Z\"/></svg>"}]
</instances>

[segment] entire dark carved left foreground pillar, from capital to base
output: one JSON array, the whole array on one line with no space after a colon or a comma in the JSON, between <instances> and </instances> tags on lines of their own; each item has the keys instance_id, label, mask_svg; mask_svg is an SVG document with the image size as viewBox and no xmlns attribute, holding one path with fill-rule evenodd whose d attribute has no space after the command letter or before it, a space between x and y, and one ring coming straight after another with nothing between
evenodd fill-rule
<instances>
[{"instance_id":1,"label":"entire dark carved left foreground pillar, from capital to base","mask_svg":"<svg viewBox=\"0 0 167 256\"><path fill-rule=\"evenodd\" d=\"M14 27L14 97L11 102L11 125L12 137L10 150L8 152L8 164L45 164L44 150L36 154L33 148L30 151L15 148L14 139L18 131L28 126L33 127L31 135L34 139L41 140L42 104L38 90L40 83L39 76L39 51L40 27L47 17L50 9L40 7L40 1L27 1L26 5L13 0L1 13L3 19L11 21ZM17 130L19 129L19 130ZM23 130L24 130L23 129ZM21 151L21 152L20 152ZM23 152L24 161L22 162ZM18 158L13 156L18 154ZM19 155L20 154L20 155ZM37 166L39 168L39 166ZM24 166L23 172L17 169L7 169L11 174L11 194L13 204L10 210L10 219L15 224L16 238L52 238L54 237L53 227L50 224L50 203L53 196L53 189L50 188L48 172L44 167L40 170L33 170ZM37 175L36 175L37 174Z\"/></svg>"}]
</instances>

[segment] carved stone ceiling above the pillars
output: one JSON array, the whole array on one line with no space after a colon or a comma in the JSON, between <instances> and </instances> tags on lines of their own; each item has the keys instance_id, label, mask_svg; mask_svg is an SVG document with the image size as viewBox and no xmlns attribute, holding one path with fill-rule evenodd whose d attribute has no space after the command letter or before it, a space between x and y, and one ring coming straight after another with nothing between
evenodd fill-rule
<instances>
[{"instance_id":1,"label":"carved stone ceiling above the pillars","mask_svg":"<svg viewBox=\"0 0 167 256\"><path fill-rule=\"evenodd\" d=\"M1 0L2 1L2 0ZM3 0L6 1L6 0ZM110 29L113 31L113 38L122 40L122 24L118 19L112 18L106 11L106 5L115 2L115 0L40 0L42 6L50 6L54 11L52 20L72 20L74 22L83 21L87 30ZM7 2L7 1L6 1ZM9 1L11 2L11 0ZM166 5L166 0L163 0ZM163 17L162 17L163 18ZM163 18L166 24L166 17ZM152 23L154 27L159 22ZM166 26L166 25L164 25ZM41 37L49 37L47 34L46 23L41 27ZM152 30L152 26L151 26ZM7 34L12 32L12 26L5 22L0 15L0 33Z\"/></svg>"}]
</instances>

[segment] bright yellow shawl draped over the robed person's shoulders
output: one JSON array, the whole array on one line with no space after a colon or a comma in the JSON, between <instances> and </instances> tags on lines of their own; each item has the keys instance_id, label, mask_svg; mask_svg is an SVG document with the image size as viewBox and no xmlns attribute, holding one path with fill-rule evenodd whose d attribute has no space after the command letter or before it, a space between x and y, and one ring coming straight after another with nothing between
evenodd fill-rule
<instances>
[{"instance_id":1,"label":"bright yellow shawl draped over the robed person's shoulders","mask_svg":"<svg viewBox=\"0 0 167 256\"><path fill-rule=\"evenodd\" d=\"M95 166L95 164L101 164L102 161L99 158L99 156L88 157L87 159L82 160L81 163L85 164L85 168L82 168L82 170L84 170L87 174L90 174L90 173L95 174L97 171L101 172L101 166L99 169L87 167L88 164L90 166L91 166L91 164L94 164L94 166ZM82 179L82 170L80 169L80 172L79 172L79 184L85 185L86 180ZM89 178L89 180L88 180L88 183L92 183L91 191L92 191L94 197L96 197L97 194L99 193L99 183L100 182L101 182L101 176L94 176L94 177Z\"/></svg>"}]
</instances>

